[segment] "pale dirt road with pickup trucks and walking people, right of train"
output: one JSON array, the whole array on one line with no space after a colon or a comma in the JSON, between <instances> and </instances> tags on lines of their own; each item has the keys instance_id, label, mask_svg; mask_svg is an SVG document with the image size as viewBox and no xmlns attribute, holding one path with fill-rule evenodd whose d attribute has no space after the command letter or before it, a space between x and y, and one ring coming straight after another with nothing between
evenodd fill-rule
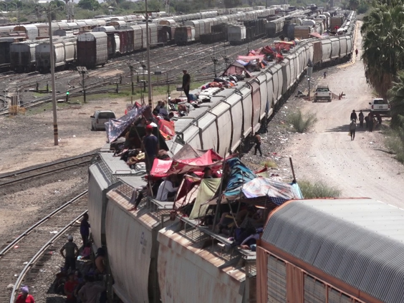
<instances>
[{"instance_id":1,"label":"pale dirt road with pickup trucks and walking people, right of train","mask_svg":"<svg viewBox=\"0 0 404 303\"><path fill-rule=\"evenodd\" d=\"M361 24L359 24L360 26ZM285 154L293 157L297 179L323 180L342 190L343 197L371 197L384 203L404 207L404 167L384 153L384 136L357 128L354 141L348 136L352 110L369 112L372 88L366 84L360 60L362 36L358 31L355 64L341 68L319 84L328 84L336 94L346 96L331 103L306 102L303 112L315 112L318 122L309 134L298 134Z\"/></svg>"}]
</instances>

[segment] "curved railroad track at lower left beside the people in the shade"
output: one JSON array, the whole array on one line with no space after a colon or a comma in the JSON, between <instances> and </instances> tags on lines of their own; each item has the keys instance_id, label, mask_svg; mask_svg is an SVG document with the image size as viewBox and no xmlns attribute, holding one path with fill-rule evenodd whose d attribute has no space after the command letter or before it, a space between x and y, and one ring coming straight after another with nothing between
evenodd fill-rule
<instances>
[{"instance_id":1,"label":"curved railroad track at lower left beside the people in the shade","mask_svg":"<svg viewBox=\"0 0 404 303\"><path fill-rule=\"evenodd\" d=\"M14 303L20 285L32 285L55 241L87 212L87 190L48 214L0 251L0 303ZM13 288L11 290L11 285Z\"/></svg>"}]
</instances>

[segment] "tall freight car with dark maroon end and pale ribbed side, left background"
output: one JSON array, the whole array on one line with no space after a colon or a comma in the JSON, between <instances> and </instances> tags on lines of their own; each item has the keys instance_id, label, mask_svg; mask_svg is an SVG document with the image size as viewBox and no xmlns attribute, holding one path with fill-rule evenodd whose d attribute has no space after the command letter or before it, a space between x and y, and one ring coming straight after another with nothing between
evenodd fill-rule
<instances>
[{"instance_id":1,"label":"tall freight car with dark maroon end and pale ribbed side, left background","mask_svg":"<svg viewBox=\"0 0 404 303\"><path fill-rule=\"evenodd\" d=\"M78 35L77 65L94 68L104 66L108 61L108 41L104 32L91 32Z\"/></svg>"}]
</instances>

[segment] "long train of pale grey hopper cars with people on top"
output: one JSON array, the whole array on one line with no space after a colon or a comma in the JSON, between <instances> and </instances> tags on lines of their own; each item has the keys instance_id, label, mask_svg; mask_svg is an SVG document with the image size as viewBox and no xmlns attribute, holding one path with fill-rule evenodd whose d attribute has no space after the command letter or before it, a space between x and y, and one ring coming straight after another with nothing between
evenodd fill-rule
<instances>
[{"instance_id":1,"label":"long train of pale grey hopper cars with people on top","mask_svg":"<svg viewBox=\"0 0 404 303\"><path fill-rule=\"evenodd\" d=\"M344 26L346 34L301 41L285 54L281 63L274 62L252 73L251 78L233 88L210 88L217 90L217 94L211 94L209 108L195 109L192 117L175 122L177 134L167 141L171 153L176 155L182 148L178 142L188 143L195 149L213 148L219 155L237 150L243 138L257 131L260 123L279 107L280 100L291 93L305 74L309 60L315 65L331 65L350 59L354 49L355 14ZM189 242L178 234L176 238L166 238L159 230L170 223L169 210L142 204L138 211L133 211L129 200L133 189L144 184L141 178L108 149L99 157L89 168L91 233L95 248L107 246L113 289L123 302L222 301L214 298L225 295L232 296L232 300L223 301L241 303L251 299L244 290L247 282L243 284L247 271L235 278L234 267L218 268L222 265L220 257L206 259L213 246L204 248L201 246L204 241ZM174 249L176 257L168 264L168 252L171 254ZM193 265L185 266L187 262ZM174 263L176 270L167 271Z\"/></svg>"}]
</instances>

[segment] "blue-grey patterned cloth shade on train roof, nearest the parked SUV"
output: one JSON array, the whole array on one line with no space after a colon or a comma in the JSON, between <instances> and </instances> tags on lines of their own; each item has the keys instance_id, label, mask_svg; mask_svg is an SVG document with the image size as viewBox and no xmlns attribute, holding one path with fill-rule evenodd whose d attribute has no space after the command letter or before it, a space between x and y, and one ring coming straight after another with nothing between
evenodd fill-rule
<instances>
[{"instance_id":1,"label":"blue-grey patterned cloth shade on train roof, nearest the parked SUV","mask_svg":"<svg viewBox=\"0 0 404 303\"><path fill-rule=\"evenodd\" d=\"M125 116L118 119L110 119L110 121L105 123L105 130L107 132L107 138L109 142L114 142L119 136L133 123L140 115L142 115L148 106L141 108L133 108Z\"/></svg>"}]
</instances>

